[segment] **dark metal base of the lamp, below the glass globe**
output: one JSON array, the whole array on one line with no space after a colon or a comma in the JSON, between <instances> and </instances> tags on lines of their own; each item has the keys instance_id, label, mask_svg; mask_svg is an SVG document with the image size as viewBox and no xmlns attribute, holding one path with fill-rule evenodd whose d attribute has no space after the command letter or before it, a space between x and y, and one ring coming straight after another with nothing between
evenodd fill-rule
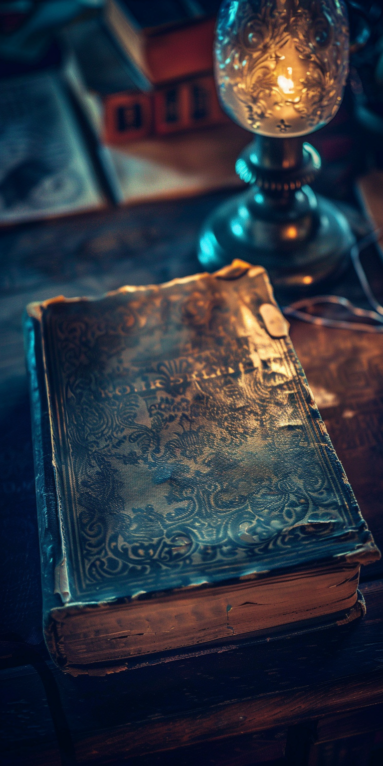
<instances>
[{"instance_id":1,"label":"dark metal base of the lamp, below the glass globe","mask_svg":"<svg viewBox=\"0 0 383 766\"><path fill-rule=\"evenodd\" d=\"M266 147L269 155L275 146L275 139L271 140L273 144ZM293 140L286 140L290 155ZM260 148L264 149L264 143L260 146L258 138L238 159L237 172L239 166L244 180L252 185L213 211L201 231L198 259L205 269L214 271L234 257L241 258L264 266L278 292L307 293L342 271L355 237L336 206L299 181L311 180L310 165L320 166L313 147L302 147L302 142L296 146L293 173L289 171L287 180L283 169L264 168ZM296 163L301 156L298 175Z\"/></svg>"}]
</instances>

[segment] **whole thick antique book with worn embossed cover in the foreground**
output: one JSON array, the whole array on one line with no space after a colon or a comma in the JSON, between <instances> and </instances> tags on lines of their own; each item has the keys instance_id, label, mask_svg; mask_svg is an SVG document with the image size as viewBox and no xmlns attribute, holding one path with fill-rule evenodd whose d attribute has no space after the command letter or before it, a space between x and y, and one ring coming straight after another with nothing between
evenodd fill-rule
<instances>
[{"instance_id":1,"label":"whole thick antique book with worn embossed cover in the foreground","mask_svg":"<svg viewBox=\"0 0 383 766\"><path fill-rule=\"evenodd\" d=\"M31 303L25 338L61 667L352 610L380 554L262 267Z\"/></svg>"}]
</instances>

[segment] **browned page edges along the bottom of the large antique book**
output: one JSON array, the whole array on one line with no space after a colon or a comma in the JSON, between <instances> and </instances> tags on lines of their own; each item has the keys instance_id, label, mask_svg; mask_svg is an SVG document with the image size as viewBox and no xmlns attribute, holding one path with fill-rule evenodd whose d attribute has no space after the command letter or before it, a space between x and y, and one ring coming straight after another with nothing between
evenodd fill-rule
<instances>
[{"instance_id":1,"label":"browned page edges along the bottom of the large antique book","mask_svg":"<svg viewBox=\"0 0 383 766\"><path fill-rule=\"evenodd\" d=\"M245 637L349 610L357 601L358 574L358 566L316 570L199 594L178 592L128 604L61 607L51 613L50 648L54 647L56 661L71 672L70 666L113 663Z\"/></svg>"}]
</instances>

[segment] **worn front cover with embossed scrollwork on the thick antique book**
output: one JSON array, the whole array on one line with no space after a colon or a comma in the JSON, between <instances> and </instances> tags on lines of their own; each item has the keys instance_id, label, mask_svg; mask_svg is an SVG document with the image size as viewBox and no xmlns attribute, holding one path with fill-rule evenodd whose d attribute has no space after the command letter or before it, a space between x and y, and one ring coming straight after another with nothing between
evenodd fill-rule
<instances>
[{"instance_id":1,"label":"worn front cover with embossed scrollwork on the thick antique book","mask_svg":"<svg viewBox=\"0 0 383 766\"><path fill-rule=\"evenodd\" d=\"M72 597L316 561L361 517L264 273L51 303L44 335Z\"/></svg>"}]
</instances>

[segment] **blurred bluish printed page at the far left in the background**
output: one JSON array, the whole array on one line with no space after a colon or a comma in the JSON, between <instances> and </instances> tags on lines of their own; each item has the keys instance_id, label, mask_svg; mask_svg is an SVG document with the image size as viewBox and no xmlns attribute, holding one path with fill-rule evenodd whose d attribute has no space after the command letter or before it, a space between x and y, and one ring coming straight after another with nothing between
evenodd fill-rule
<instances>
[{"instance_id":1,"label":"blurred bluish printed page at the far left in the background","mask_svg":"<svg viewBox=\"0 0 383 766\"><path fill-rule=\"evenodd\" d=\"M0 224L104 205L57 75L39 72L0 83Z\"/></svg>"}]
</instances>

